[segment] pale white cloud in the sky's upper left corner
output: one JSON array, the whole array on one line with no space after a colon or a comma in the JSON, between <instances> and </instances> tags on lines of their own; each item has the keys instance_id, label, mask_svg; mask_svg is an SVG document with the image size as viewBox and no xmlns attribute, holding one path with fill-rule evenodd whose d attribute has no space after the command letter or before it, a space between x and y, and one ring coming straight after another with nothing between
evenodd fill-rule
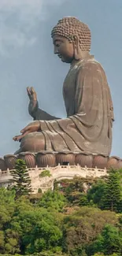
<instances>
[{"instance_id":1,"label":"pale white cloud in the sky's upper left corner","mask_svg":"<svg viewBox=\"0 0 122 256\"><path fill-rule=\"evenodd\" d=\"M65 0L0 0L0 54L36 42L35 26Z\"/></svg>"}]
</instances>

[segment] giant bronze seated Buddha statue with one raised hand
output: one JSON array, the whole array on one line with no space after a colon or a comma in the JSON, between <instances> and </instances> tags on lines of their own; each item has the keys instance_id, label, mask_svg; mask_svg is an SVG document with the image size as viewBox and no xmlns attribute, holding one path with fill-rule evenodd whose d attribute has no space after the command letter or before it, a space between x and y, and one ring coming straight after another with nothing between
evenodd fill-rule
<instances>
[{"instance_id":1,"label":"giant bronze seated Buddha statue with one raised hand","mask_svg":"<svg viewBox=\"0 0 122 256\"><path fill-rule=\"evenodd\" d=\"M90 54L91 31L76 17L64 17L51 32L54 54L70 65L63 85L67 117L39 109L33 87L28 87L31 124L13 139L20 152L83 152L109 156L112 146L113 102L102 65Z\"/></svg>"}]
</instances>

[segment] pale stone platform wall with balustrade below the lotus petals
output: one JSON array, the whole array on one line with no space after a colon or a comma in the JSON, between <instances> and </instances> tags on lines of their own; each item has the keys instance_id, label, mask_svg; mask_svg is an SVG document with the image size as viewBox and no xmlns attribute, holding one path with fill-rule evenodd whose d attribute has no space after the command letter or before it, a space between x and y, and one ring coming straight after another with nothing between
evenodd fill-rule
<instances>
[{"instance_id":1,"label":"pale stone platform wall with balustrade below the lotus petals","mask_svg":"<svg viewBox=\"0 0 122 256\"><path fill-rule=\"evenodd\" d=\"M50 171L50 177L45 176L41 177L41 173L43 171ZM11 175L11 171L7 169L6 171L0 170L0 187L8 187L8 185L12 184L11 179L13 176ZM47 191L48 189L54 189L54 180L65 180L65 179L73 179L75 176L83 177L83 178L100 178L102 176L108 176L107 169L98 169L96 168L84 168L80 165L57 165L55 167L39 168L35 166L35 168L28 168L28 173L31 178L31 187L33 193L37 193L39 188L41 190Z\"/></svg>"}]
</instances>

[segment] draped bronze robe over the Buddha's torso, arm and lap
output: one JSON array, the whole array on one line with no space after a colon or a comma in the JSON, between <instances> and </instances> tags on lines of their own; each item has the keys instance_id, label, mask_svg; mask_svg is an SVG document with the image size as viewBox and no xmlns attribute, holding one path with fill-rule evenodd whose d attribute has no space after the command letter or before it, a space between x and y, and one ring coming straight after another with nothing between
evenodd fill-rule
<instances>
[{"instance_id":1,"label":"draped bronze robe over the Buddha's torso, arm and lap","mask_svg":"<svg viewBox=\"0 0 122 256\"><path fill-rule=\"evenodd\" d=\"M35 120L40 121L45 150L108 156L112 146L113 102L105 72L93 56L71 66L63 96L66 118L54 119L49 115L45 119L48 114L41 109L35 115Z\"/></svg>"}]
</instances>

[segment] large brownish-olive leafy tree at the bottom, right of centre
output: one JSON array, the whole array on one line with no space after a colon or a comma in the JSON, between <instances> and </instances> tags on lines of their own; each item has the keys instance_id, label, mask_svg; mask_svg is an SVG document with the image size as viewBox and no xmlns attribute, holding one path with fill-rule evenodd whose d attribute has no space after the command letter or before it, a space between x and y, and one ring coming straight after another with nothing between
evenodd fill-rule
<instances>
[{"instance_id":1,"label":"large brownish-olive leafy tree at the bottom, right of centre","mask_svg":"<svg viewBox=\"0 0 122 256\"><path fill-rule=\"evenodd\" d=\"M102 232L105 224L115 225L117 219L116 213L83 206L76 212L67 215L64 222L64 250L73 256L80 256L84 253L84 250L87 250L87 247L96 239L98 234ZM94 251L92 252L94 254Z\"/></svg>"}]
</instances>

